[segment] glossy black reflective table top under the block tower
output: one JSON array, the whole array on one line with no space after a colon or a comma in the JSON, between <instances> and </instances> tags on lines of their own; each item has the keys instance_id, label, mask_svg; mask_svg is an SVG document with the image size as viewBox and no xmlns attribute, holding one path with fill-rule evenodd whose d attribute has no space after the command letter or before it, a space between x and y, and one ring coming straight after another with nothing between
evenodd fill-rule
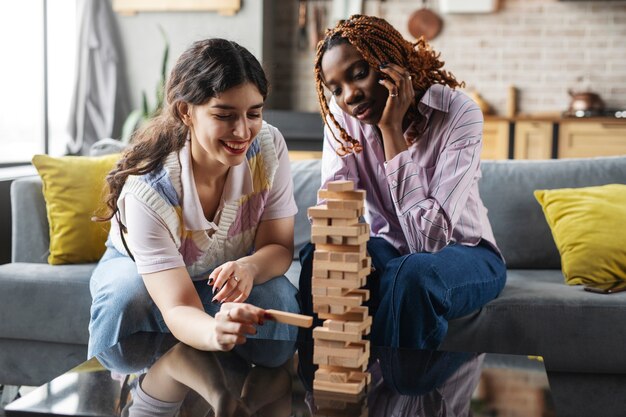
<instances>
[{"instance_id":1,"label":"glossy black reflective table top under the block tower","mask_svg":"<svg viewBox=\"0 0 626 417\"><path fill-rule=\"evenodd\" d=\"M248 339L204 352L139 333L9 404L7 416L556 415L543 363L371 347L359 395L314 391L312 342Z\"/></svg>"}]
</instances>

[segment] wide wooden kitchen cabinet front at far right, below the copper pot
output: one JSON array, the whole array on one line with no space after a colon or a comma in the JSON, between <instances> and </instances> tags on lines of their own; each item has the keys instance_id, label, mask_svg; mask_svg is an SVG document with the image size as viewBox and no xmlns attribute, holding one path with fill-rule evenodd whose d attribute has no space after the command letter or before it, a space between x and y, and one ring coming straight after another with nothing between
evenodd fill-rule
<instances>
[{"instance_id":1,"label":"wide wooden kitchen cabinet front at far right, below the copper pot","mask_svg":"<svg viewBox=\"0 0 626 417\"><path fill-rule=\"evenodd\" d=\"M563 120L559 158L626 155L626 123L617 120Z\"/></svg>"}]
</instances>

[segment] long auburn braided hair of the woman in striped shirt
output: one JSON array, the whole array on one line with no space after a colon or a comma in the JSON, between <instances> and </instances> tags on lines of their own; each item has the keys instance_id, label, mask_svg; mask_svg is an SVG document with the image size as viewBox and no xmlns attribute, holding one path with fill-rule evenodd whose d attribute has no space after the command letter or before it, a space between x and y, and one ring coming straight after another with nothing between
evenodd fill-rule
<instances>
[{"instance_id":1,"label":"long auburn braided hair of the woman in striped shirt","mask_svg":"<svg viewBox=\"0 0 626 417\"><path fill-rule=\"evenodd\" d=\"M322 118L327 126L330 118L343 140L337 139L330 129L333 138L339 143L338 155L359 153L362 150L361 144L351 137L332 115L324 94L322 57L326 51L344 43L354 46L373 68L378 68L384 63L395 63L408 69L416 93L415 102L408 110L412 120L419 118L417 103L433 84L443 84L451 88L465 86L465 83L457 81L454 75L443 69L444 62L439 59L441 54L435 52L423 37L414 43L409 42L386 20L375 16L356 14L347 20L340 20L334 28L326 30L324 39L317 44L314 66L315 86Z\"/></svg>"}]
</instances>

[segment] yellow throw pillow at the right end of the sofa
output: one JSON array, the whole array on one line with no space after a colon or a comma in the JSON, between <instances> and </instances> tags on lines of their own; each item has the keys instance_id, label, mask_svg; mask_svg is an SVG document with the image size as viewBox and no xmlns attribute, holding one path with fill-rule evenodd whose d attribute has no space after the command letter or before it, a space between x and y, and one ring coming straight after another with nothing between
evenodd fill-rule
<instances>
[{"instance_id":1,"label":"yellow throw pillow at the right end of the sofa","mask_svg":"<svg viewBox=\"0 0 626 417\"><path fill-rule=\"evenodd\" d=\"M626 280L626 185L537 190L569 285Z\"/></svg>"}]
</instances>

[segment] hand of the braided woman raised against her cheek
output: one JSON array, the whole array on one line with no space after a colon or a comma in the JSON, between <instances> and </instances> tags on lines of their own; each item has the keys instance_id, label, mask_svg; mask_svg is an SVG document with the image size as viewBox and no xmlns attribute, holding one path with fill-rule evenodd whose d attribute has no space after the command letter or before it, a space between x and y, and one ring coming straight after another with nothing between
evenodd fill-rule
<instances>
[{"instance_id":1,"label":"hand of the braided woman raised against her cheek","mask_svg":"<svg viewBox=\"0 0 626 417\"><path fill-rule=\"evenodd\" d=\"M399 129L402 133L404 115L415 100L411 74L409 70L396 64L387 64L380 68L380 72L389 77L379 81L389 90L389 96L378 127L383 132Z\"/></svg>"}]
</instances>

